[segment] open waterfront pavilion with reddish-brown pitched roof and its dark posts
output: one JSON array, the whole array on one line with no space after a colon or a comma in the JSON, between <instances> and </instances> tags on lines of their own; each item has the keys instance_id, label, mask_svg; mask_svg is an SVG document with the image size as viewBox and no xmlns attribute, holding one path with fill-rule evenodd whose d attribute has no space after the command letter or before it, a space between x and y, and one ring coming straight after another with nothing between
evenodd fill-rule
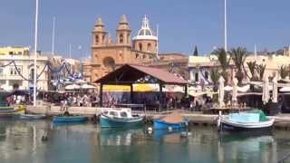
<instances>
[{"instance_id":1,"label":"open waterfront pavilion with reddish-brown pitched roof and its dark posts","mask_svg":"<svg viewBox=\"0 0 290 163\"><path fill-rule=\"evenodd\" d=\"M117 70L108 73L99 80L95 81L100 83L100 104L102 105L102 91L103 85L130 85L131 101L133 100L134 83L158 83L160 92L162 92L162 85L180 85L185 87L187 93L188 82L162 69L135 65L124 64ZM187 94L186 94L187 95Z\"/></svg>"}]
</instances>

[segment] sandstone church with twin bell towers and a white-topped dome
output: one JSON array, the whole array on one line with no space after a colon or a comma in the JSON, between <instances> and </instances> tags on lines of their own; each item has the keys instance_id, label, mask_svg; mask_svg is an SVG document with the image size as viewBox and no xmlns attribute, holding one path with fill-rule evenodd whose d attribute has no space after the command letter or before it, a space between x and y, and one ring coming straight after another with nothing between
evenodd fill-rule
<instances>
[{"instance_id":1,"label":"sandstone church with twin bell towers and a white-topped dome","mask_svg":"<svg viewBox=\"0 0 290 163\"><path fill-rule=\"evenodd\" d=\"M170 61L179 61L179 59L182 59L184 64L188 64L188 55L179 53L159 55L158 43L159 38L150 29L150 22L146 15L142 19L138 34L131 39L130 24L126 15L122 14L116 29L116 43L112 43L111 34L108 34L99 16L92 30L90 81L96 81L125 63L149 66L158 63L158 67L165 69L169 69Z\"/></svg>"}]
</instances>

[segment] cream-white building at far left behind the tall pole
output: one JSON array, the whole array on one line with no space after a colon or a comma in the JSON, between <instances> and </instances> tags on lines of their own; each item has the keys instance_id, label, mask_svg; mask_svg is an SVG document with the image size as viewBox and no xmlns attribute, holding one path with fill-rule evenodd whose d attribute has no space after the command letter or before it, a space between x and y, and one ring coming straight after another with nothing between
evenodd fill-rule
<instances>
[{"instance_id":1,"label":"cream-white building at far left behind the tall pole","mask_svg":"<svg viewBox=\"0 0 290 163\"><path fill-rule=\"evenodd\" d=\"M47 91L48 89L48 68L44 68L47 61L46 56L37 55L37 74L42 72L37 80L37 90ZM29 90L33 88L33 79L34 54L0 54L0 90Z\"/></svg>"}]
</instances>

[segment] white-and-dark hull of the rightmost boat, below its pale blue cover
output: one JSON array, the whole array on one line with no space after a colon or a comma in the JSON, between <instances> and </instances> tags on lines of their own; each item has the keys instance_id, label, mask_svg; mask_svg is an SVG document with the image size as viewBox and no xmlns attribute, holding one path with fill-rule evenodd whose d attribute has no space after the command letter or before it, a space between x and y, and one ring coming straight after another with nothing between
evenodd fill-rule
<instances>
[{"instance_id":1,"label":"white-and-dark hull of the rightmost boat, below its pale blue cover","mask_svg":"<svg viewBox=\"0 0 290 163\"><path fill-rule=\"evenodd\" d=\"M256 123L241 123L226 119L220 120L220 129L227 131L266 131L273 127L274 119L256 122Z\"/></svg>"}]
</instances>

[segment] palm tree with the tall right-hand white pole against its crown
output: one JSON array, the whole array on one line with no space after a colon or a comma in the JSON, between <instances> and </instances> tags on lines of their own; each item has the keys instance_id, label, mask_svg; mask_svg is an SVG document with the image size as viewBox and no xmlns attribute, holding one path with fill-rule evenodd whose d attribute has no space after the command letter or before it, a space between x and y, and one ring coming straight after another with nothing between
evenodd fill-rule
<instances>
[{"instance_id":1,"label":"palm tree with the tall right-hand white pole against its crown","mask_svg":"<svg viewBox=\"0 0 290 163\"><path fill-rule=\"evenodd\" d=\"M227 59L227 52L225 51L224 48L218 48L217 50L213 52L213 54L218 56L218 62L222 68L221 75L223 76L223 78L225 79L225 82L227 83L227 77L228 77L227 68L229 65L230 58Z\"/></svg>"}]
</instances>

